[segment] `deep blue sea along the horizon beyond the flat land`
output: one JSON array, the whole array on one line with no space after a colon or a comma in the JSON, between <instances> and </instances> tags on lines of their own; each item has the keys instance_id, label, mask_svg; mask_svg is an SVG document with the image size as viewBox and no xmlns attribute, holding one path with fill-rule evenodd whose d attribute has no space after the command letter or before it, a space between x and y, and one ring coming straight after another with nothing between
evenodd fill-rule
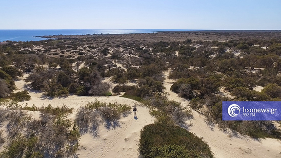
<instances>
[{"instance_id":1,"label":"deep blue sea along the horizon beyond the flat land","mask_svg":"<svg viewBox=\"0 0 281 158\"><path fill-rule=\"evenodd\" d=\"M4 41L41 41L44 35L83 35L83 34L126 34L155 33L159 31L197 31L178 29L64 29L64 30L0 30L0 42Z\"/></svg>"}]
</instances>

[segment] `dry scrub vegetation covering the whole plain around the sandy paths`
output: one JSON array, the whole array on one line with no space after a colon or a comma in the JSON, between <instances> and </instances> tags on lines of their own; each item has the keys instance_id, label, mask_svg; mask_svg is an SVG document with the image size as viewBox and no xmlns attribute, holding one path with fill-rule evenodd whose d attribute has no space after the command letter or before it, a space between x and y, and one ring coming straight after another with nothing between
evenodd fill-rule
<instances>
[{"instance_id":1,"label":"dry scrub vegetation covering the whole plain around the sandy paths","mask_svg":"<svg viewBox=\"0 0 281 158\"><path fill-rule=\"evenodd\" d=\"M186 128L186 121L192 118L190 111L177 102L168 101L163 94L163 72L171 70L169 78L176 80L171 90L190 100L190 107L206 115L207 122L255 138L281 138L280 130L271 121L222 121L222 101L281 101L280 31L48 37L58 39L7 41L0 46L0 98L8 107L1 111L1 122L8 122L8 139L4 139L3 131L0 131L0 145L9 142L1 153L4 157L75 157L81 134L91 132L95 135L101 123L107 128L115 128L119 118L130 111L126 105L96 101L80 107L73 123L66 117L71 113L67 105L64 109L14 106L16 104L4 100L30 99L27 91L12 93L16 88L14 81L23 73L29 73L25 80L29 90L44 91L46 97L51 98L70 94L109 96L111 92L113 95L125 92L124 97L151 107L151 114L158 120L151 126L161 124L165 126L163 130L171 132L174 127ZM105 82L104 78L110 78L107 80L110 82ZM255 91L256 86L264 89ZM224 97L221 88L232 97ZM41 116L39 120L33 120L24 110L40 111ZM21 132L23 129L25 132ZM142 134L146 132L153 134L149 127L145 127ZM55 135L61 139L55 139ZM164 139L168 135L162 136ZM204 144L197 137L190 137ZM213 156L208 146L203 145L204 152L190 153L190 146L174 141L175 138L169 136L162 145L144 141L140 152L160 156L173 149L190 157ZM21 148L20 142L25 142ZM173 152L167 154L172 156Z\"/></svg>"}]
</instances>

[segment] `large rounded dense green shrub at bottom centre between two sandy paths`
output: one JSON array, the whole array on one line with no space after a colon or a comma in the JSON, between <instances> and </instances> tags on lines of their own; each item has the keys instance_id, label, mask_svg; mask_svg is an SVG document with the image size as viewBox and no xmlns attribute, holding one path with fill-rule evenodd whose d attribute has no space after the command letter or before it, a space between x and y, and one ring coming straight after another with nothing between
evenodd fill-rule
<instances>
[{"instance_id":1,"label":"large rounded dense green shrub at bottom centre between two sandy paths","mask_svg":"<svg viewBox=\"0 0 281 158\"><path fill-rule=\"evenodd\" d=\"M168 151L168 149L170 149ZM182 153L178 157L213 157L209 146L196 135L170 123L147 125L140 131L139 151L145 157ZM178 154L179 154L178 153Z\"/></svg>"}]
</instances>

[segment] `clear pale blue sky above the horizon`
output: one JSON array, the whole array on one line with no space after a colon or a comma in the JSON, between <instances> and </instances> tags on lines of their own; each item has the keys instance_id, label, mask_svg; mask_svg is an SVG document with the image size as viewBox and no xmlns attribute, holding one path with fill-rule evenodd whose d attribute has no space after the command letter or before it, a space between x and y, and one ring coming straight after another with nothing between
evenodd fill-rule
<instances>
[{"instance_id":1,"label":"clear pale blue sky above the horizon","mask_svg":"<svg viewBox=\"0 0 281 158\"><path fill-rule=\"evenodd\" d=\"M0 29L281 30L280 0L3 0Z\"/></svg>"}]
</instances>

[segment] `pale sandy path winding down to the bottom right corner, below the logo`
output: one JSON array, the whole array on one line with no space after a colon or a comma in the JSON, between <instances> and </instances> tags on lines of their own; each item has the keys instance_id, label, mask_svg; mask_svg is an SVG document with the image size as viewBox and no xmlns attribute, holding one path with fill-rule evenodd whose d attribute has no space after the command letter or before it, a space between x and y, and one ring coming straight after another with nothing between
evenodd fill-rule
<instances>
[{"instance_id":1,"label":"pale sandy path winding down to the bottom right corner, below the logo","mask_svg":"<svg viewBox=\"0 0 281 158\"><path fill-rule=\"evenodd\" d=\"M164 72L165 77L169 72ZM181 102L183 106L188 106L188 101L178 97L178 95L170 90L172 81L167 79L164 81L166 87L165 92L168 92L169 99ZM236 137L230 137L228 133L219 130L217 125L213 129L205 123L205 116L192 110L194 119L189 131L195 133L210 146L211 151L216 158L220 157L281 157L281 141L276 139L262 139L256 141L249 136L238 134ZM188 122L190 123L190 122Z\"/></svg>"}]
</instances>

